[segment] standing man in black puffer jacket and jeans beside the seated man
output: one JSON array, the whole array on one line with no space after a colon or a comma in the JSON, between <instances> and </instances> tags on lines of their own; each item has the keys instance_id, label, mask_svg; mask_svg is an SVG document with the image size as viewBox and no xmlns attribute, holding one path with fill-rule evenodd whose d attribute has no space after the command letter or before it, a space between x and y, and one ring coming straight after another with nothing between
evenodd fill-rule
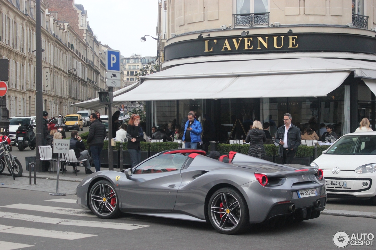
<instances>
[{"instance_id":1,"label":"standing man in black puffer jacket and jeans beside the seated man","mask_svg":"<svg viewBox=\"0 0 376 250\"><path fill-rule=\"evenodd\" d=\"M103 148L103 141L107 132L105 125L98 120L95 113L90 115L89 135L86 142L90 145L91 157L93 158L95 170L100 171L100 153Z\"/></svg>"}]
</instances>

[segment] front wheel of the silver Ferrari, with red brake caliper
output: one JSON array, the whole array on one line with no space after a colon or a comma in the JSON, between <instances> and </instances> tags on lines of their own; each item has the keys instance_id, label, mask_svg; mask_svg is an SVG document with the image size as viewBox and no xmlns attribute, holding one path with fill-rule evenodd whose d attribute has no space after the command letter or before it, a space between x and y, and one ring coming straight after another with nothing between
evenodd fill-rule
<instances>
[{"instance_id":1,"label":"front wheel of the silver Ferrari, with red brake caliper","mask_svg":"<svg viewBox=\"0 0 376 250\"><path fill-rule=\"evenodd\" d=\"M90 208L99 218L114 218L118 215L119 204L115 188L108 181L99 181L90 190Z\"/></svg>"}]
</instances>

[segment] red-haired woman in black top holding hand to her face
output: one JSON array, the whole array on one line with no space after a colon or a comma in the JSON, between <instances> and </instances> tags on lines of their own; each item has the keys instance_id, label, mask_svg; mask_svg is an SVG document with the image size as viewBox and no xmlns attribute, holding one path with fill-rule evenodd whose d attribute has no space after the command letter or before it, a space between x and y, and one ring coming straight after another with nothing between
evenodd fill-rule
<instances>
[{"instance_id":1,"label":"red-haired woman in black top holding hand to her face","mask_svg":"<svg viewBox=\"0 0 376 250\"><path fill-rule=\"evenodd\" d=\"M140 149L140 117L138 114L132 114L129 118L127 127L127 137L128 137L128 151L130 155L130 162L132 167L136 166L141 162L141 149Z\"/></svg>"}]
</instances>

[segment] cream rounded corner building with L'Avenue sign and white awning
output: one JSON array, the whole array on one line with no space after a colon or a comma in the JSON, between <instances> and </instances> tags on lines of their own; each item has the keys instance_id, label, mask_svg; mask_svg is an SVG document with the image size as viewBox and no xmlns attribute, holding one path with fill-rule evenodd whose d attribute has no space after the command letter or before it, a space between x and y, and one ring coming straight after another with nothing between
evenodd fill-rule
<instances>
[{"instance_id":1,"label":"cream rounded corner building with L'Avenue sign and white awning","mask_svg":"<svg viewBox=\"0 0 376 250\"><path fill-rule=\"evenodd\" d=\"M141 77L123 96L147 101L148 133L152 125L180 124L191 110L221 142L244 139L254 120L270 123L273 135L284 113L300 128L332 124L338 135L355 131L363 117L375 128L374 1L166 0L158 6L162 72ZM170 100L158 92L166 86Z\"/></svg>"}]
</instances>

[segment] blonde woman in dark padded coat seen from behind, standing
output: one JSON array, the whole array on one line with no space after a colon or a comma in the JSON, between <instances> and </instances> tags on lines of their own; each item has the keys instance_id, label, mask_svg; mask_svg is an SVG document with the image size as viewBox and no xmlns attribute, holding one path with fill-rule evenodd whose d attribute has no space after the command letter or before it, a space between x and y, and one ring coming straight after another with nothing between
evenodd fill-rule
<instances>
[{"instance_id":1,"label":"blonde woman in dark padded coat seen from behind, standing","mask_svg":"<svg viewBox=\"0 0 376 250\"><path fill-rule=\"evenodd\" d=\"M255 120L253 121L252 129L246 137L246 143L249 143L248 155L258 158L258 149L261 148L261 159L264 159L264 142L266 142L266 135L264 130L262 130L262 124L258 120Z\"/></svg>"}]
</instances>

